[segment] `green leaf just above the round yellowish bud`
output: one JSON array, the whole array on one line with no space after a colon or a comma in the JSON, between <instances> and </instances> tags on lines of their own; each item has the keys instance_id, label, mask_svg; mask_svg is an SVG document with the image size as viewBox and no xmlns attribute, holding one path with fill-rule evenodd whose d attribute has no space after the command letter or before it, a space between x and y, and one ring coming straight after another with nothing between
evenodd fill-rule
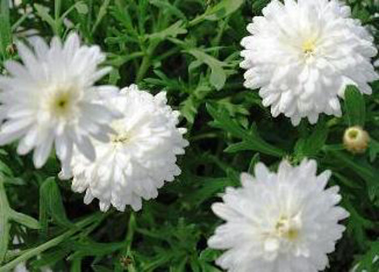
<instances>
[{"instance_id":1,"label":"green leaf just above the round yellowish bud","mask_svg":"<svg viewBox=\"0 0 379 272\"><path fill-rule=\"evenodd\" d=\"M346 87L345 107L349 125L359 125L363 127L366 119L366 106L363 95L356 86L349 85Z\"/></svg>"}]
</instances>

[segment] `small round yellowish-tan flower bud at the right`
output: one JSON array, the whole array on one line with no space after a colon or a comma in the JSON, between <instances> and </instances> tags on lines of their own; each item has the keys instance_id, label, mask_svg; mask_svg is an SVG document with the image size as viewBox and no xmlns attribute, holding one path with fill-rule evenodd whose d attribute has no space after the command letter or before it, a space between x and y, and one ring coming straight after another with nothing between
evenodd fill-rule
<instances>
[{"instance_id":1,"label":"small round yellowish-tan flower bud at the right","mask_svg":"<svg viewBox=\"0 0 379 272\"><path fill-rule=\"evenodd\" d=\"M351 126L345 130L344 145L352 153L364 153L370 137L360 126Z\"/></svg>"}]
</instances>

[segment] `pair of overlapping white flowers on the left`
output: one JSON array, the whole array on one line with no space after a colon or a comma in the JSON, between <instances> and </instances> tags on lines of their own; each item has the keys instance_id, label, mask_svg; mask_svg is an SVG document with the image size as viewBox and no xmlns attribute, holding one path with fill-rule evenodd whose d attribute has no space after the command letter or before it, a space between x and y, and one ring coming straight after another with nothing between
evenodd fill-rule
<instances>
[{"instance_id":1,"label":"pair of overlapping white flowers on the left","mask_svg":"<svg viewBox=\"0 0 379 272\"><path fill-rule=\"evenodd\" d=\"M0 144L19 140L17 152L34 150L37 168L54 147L60 177L74 174L73 190L86 190L85 203L99 198L103 211L110 204L138 210L141 198L157 197L180 174L176 155L188 145L166 94L94 85L111 68L99 68L105 54L80 45L75 32L64 44L57 37L50 47L36 36L29 42L17 44L23 65L6 62L9 75L0 77Z\"/></svg>"}]
</instances>

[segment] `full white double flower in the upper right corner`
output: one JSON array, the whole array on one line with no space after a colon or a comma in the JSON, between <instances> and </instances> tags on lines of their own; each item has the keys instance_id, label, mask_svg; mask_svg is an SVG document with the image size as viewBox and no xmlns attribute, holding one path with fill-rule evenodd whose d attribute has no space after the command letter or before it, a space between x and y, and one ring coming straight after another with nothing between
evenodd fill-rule
<instances>
[{"instance_id":1,"label":"full white double flower in the upper right corner","mask_svg":"<svg viewBox=\"0 0 379 272\"><path fill-rule=\"evenodd\" d=\"M246 49L241 67L245 86L260 88L264 106L294 125L320 113L341 116L338 97L348 84L371 94L367 82L379 78L371 57L377 54L373 37L350 8L337 0L273 0L253 18L242 40Z\"/></svg>"}]
</instances>

